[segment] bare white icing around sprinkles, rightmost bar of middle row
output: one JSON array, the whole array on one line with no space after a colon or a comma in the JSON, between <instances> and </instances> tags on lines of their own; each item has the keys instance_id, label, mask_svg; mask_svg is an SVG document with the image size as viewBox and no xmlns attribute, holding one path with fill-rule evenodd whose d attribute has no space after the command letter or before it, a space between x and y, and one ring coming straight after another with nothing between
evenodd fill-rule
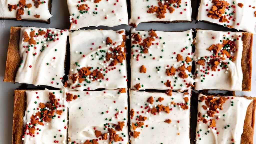
<instances>
[{"instance_id":1,"label":"bare white icing around sprinkles, rightmost bar of middle row","mask_svg":"<svg viewBox=\"0 0 256 144\"><path fill-rule=\"evenodd\" d=\"M241 37L239 37L239 35ZM218 67L216 68L216 71L211 70L212 66L209 66L209 68L207 68L208 64L206 62L205 62L205 66L196 64L196 71L198 71L198 76L197 76L198 82L196 82L196 86L195 86L196 90L202 90L202 89L218 89L218 90L233 90L233 91L242 90L243 73L241 68L241 59L242 59L242 52L243 52L243 43L242 43L241 32L220 32L220 31L212 31L212 30L197 30L197 35L195 38L196 51L195 51L194 59L198 61L201 57L205 59L205 56L207 57L212 56L213 53L209 51L208 48L212 44L215 44L215 45L222 44L224 37L226 40L227 38L236 39L235 49L237 49L237 51L235 51L232 54L232 56L236 57L236 60L231 61L229 60L229 58L227 58L226 55L223 56L225 60L221 60L220 62L230 63L230 64L227 64L226 69L222 69L222 68L225 68L226 64L224 64L222 67L218 65ZM222 42L220 42L220 40L222 40ZM221 54L220 51L219 53ZM206 61L210 59L212 58L206 59ZM205 69L208 69L207 72L209 72L209 74L205 74L206 72ZM201 75L205 75L205 76L201 76ZM203 82L201 82L201 80Z\"/></svg>"}]
</instances>

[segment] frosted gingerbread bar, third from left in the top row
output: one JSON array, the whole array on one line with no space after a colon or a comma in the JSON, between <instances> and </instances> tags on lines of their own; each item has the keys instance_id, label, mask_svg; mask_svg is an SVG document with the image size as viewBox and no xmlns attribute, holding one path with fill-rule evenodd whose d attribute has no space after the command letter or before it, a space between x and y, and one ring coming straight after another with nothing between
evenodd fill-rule
<instances>
[{"instance_id":1,"label":"frosted gingerbread bar, third from left in the top row","mask_svg":"<svg viewBox=\"0 0 256 144\"><path fill-rule=\"evenodd\" d=\"M143 22L191 22L191 1L137 1L131 0L130 26Z\"/></svg>"}]
</instances>

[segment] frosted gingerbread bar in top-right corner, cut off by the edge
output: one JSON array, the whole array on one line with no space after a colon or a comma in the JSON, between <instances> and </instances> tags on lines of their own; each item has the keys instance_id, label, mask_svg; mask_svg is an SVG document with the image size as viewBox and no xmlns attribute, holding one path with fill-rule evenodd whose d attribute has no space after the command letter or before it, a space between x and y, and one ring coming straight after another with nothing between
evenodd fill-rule
<instances>
[{"instance_id":1,"label":"frosted gingerbread bar in top-right corner, cut off by the edge","mask_svg":"<svg viewBox=\"0 0 256 144\"><path fill-rule=\"evenodd\" d=\"M255 34L256 1L201 0L197 20Z\"/></svg>"}]
</instances>

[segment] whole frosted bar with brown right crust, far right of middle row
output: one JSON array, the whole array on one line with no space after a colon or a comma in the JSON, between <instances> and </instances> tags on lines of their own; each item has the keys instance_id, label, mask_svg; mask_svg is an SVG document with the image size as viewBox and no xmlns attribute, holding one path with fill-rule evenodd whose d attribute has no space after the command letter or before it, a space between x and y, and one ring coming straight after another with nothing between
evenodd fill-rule
<instances>
[{"instance_id":1,"label":"whole frosted bar with brown right crust, far right of middle row","mask_svg":"<svg viewBox=\"0 0 256 144\"><path fill-rule=\"evenodd\" d=\"M243 32L197 30L195 89L250 91L252 36Z\"/></svg>"}]
</instances>

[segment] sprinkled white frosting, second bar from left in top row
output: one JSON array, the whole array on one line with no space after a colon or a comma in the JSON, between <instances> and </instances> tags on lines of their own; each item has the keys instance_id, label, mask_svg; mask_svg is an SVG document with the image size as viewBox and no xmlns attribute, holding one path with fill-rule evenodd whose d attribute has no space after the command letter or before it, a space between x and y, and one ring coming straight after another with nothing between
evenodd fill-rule
<instances>
[{"instance_id":1,"label":"sprinkled white frosting, second bar from left in top row","mask_svg":"<svg viewBox=\"0 0 256 144\"><path fill-rule=\"evenodd\" d=\"M70 30L128 24L125 0L67 0Z\"/></svg>"}]
</instances>

